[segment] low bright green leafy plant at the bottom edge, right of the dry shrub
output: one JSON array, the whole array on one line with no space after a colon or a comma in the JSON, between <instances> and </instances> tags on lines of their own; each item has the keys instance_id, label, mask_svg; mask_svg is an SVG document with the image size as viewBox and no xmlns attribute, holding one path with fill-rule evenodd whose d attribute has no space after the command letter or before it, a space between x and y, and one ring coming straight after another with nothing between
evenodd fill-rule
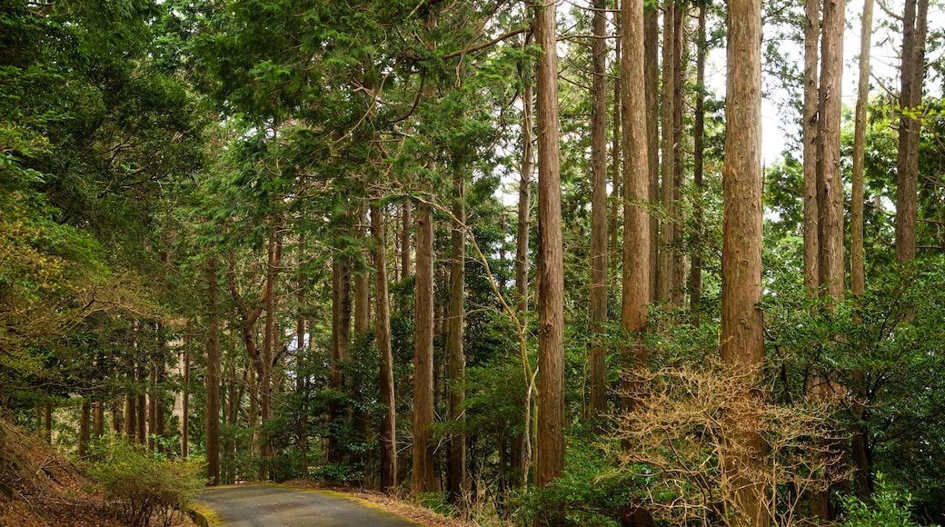
<instances>
[{"instance_id":1,"label":"low bright green leafy plant at the bottom edge, right of the dry shrub","mask_svg":"<svg viewBox=\"0 0 945 527\"><path fill-rule=\"evenodd\" d=\"M876 474L876 490L869 502L855 496L841 496L842 527L918 527L912 521L909 505L912 495L889 484L883 473Z\"/></svg>"}]
</instances>

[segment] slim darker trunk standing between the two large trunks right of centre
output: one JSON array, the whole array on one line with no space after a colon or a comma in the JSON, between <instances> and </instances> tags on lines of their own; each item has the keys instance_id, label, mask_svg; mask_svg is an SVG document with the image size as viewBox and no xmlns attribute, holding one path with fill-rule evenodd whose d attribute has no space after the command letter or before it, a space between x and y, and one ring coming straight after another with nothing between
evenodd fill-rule
<instances>
[{"instance_id":1,"label":"slim darker trunk standing between the two large trunks right of centre","mask_svg":"<svg viewBox=\"0 0 945 527\"><path fill-rule=\"evenodd\" d=\"M594 0L593 124L591 128L591 414L607 412L607 353L602 334L607 323L607 0Z\"/></svg>"}]
</instances>

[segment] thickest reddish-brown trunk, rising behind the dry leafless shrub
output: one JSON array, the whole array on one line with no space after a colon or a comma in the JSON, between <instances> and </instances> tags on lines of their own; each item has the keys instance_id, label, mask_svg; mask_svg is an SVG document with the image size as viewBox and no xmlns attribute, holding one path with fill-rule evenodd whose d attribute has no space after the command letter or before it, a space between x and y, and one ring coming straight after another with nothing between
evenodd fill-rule
<instances>
[{"instance_id":1,"label":"thickest reddish-brown trunk, rising behind the dry leafless shrub","mask_svg":"<svg viewBox=\"0 0 945 527\"><path fill-rule=\"evenodd\" d=\"M722 166L722 362L760 381L764 361L762 313L762 5L731 0L728 20L725 161ZM759 397L746 387L745 398ZM760 403L761 401L759 401ZM722 460L736 524L770 524L765 486L752 474L763 457L757 415L726 416L724 440L734 450Z\"/></svg>"}]
</instances>

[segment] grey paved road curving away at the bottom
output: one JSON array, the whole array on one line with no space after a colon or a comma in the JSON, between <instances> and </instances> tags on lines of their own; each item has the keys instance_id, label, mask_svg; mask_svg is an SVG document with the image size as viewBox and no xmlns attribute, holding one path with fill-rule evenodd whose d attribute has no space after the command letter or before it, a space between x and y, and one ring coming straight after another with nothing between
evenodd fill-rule
<instances>
[{"instance_id":1,"label":"grey paved road curving away at the bottom","mask_svg":"<svg viewBox=\"0 0 945 527\"><path fill-rule=\"evenodd\" d=\"M318 490L272 484L209 488L200 496L201 513L213 527L404 527L417 525L351 498Z\"/></svg>"}]
</instances>

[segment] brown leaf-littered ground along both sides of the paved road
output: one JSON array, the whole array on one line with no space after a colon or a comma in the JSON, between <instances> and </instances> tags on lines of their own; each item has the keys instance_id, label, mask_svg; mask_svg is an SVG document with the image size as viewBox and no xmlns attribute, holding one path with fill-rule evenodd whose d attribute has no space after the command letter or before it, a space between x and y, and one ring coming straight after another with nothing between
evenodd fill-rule
<instances>
[{"instance_id":1,"label":"brown leaf-littered ground along both sides of the paved road","mask_svg":"<svg viewBox=\"0 0 945 527\"><path fill-rule=\"evenodd\" d=\"M285 485L349 494L430 527L469 525L381 492L305 480ZM94 482L72 461L34 433L0 419L0 527L49 525L122 527L124 523L115 518L102 492L95 489ZM182 527L193 523L181 514L173 525Z\"/></svg>"}]
</instances>

